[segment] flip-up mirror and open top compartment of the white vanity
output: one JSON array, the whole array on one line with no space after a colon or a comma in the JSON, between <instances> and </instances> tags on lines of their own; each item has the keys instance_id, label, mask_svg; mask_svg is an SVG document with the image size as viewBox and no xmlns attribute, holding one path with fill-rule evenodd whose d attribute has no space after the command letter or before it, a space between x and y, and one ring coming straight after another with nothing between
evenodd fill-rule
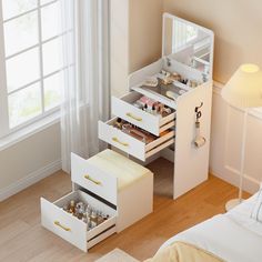
<instances>
[{"instance_id":1,"label":"flip-up mirror and open top compartment of the white vanity","mask_svg":"<svg viewBox=\"0 0 262 262\"><path fill-rule=\"evenodd\" d=\"M162 26L162 58L131 74L130 87L177 109L182 94L211 84L214 34L170 13Z\"/></svg>"}]
</instances>

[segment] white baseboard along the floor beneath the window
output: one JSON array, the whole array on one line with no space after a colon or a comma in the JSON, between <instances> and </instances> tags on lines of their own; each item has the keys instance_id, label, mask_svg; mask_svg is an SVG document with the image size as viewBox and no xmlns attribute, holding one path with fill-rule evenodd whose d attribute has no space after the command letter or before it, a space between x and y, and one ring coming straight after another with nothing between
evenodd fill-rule
<instances>
[{"instance_id":1,"label":"white baseboard along the floor beneath the window","mask_svg":"<svg viewBox=\"0 0 262 262\"><path fill-rule=\"evenodd\" d=\"M39 182L40 180L49 177L50 174L61 169L61 160L57 160L32 173L26 178L10 184L9 187L0 190L0 202L10 198L11 195L22 191L23 189Z\"/></svg>"}]
</instances>

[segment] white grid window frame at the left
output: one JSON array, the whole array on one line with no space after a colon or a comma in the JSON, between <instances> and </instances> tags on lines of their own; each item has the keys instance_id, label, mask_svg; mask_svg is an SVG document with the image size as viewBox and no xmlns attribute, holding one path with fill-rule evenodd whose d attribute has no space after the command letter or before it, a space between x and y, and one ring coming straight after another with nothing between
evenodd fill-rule
<instances>
[{"instance_id":1,"label":"white grid window frame at the left","mask_svg":"<svg viewBox=\"0 0 262 262\"><path fill-rule=\"evenodd\" d=\"M22 129L24 130L29 130L28 127L29 125L33 125L34 123L36 127L39 127L39 122L42 121L43 122L43 125L46 127L47 125L47 119L49 119L50 121L52 122L57 122L57 119L59 118L59 112L60 112L60 105L53 108L53 109L50 109L48 111L44 111L44 89L43 89L43 81L46 78L49 78L58 72L60 72L61 70L63 70L64 68L61 68L54 72L51 72L47 75L43 75L43 60L42 60L42 46L47 42L50 42L52 40L56 40L60 37L62 37L63 33L60 33L56 37L52 37L48 40L44 40L42 41L42 24L41 24L41 8L44 8L44 7L48 7L50 4L53 4L56 2L59 2L60 0L53 0L53 1L50 1L48 3L44 3L44 4L40 4L40 0L38 0L37 2L37 7L33 8L33 9L30 9L26 12L22 12L22 13L19 13L18 16L14 16L10 19L7 19L7 20L3 20L3 17L2 17L2 0L0 0L0 140L7 135L10 135L10 134L13 134L16 132L19 132L21 131ZM16 52L11 56L8 56L6 57L6 53L4 53L4 33L3 33L3 24L4 22L7 21L11 21L11 20L14 20L17 18L20 18L27 13L30 13L30 12L33 12L33 11L37 11L38 12L38 43L30 47L30 48L27 48L27 49L23 49L22 51L19 51L19 52ZM14 91L11 91L8 93L8 87L7 87L7 74L6 74L6 61L12 57L17 57L18 54L21 54L21 53L24 53L29 50L32 50L33 48L38 47L39 48L39 63L40 63L40 78L33 82L30 82L23 87L20 87L18 89L16 89ZM36 82L40 82L40 88L41 88L41 111L42 113L26 121L26 122L22 122L18 125L16 125L14 128L10 129L9 128L9 112L8 112L8 95L10 95L11 93L14 93L14 92L18 92ZM28 132L28 131L27 131ZM21 132L20 132L21 133ZM13 137L13 135L12 135ZM1 141L0 141L1 142ZM1 149L1 143L0 143L0 149Z\"/></svg>"}]
</instances>

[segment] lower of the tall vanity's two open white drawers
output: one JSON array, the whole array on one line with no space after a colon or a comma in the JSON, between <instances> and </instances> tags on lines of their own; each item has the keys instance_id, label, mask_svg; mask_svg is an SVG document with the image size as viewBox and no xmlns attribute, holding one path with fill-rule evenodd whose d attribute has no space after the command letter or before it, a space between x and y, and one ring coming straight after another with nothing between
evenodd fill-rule
<instances>
[{"instance_id":1,"label":"lower of the tall vanity's two open white drawers","mask_svg":"<svg viewBox=\"0 0 262 262\"><path fill-rule=\"evenodd\" d=\"M155 138L150 143L145 143L114 128L115 121L117 118L105 123L99 121L99 138L142 161L174 143L174 130L167 130L163 135Z\"/></svg>"}]
</instances>

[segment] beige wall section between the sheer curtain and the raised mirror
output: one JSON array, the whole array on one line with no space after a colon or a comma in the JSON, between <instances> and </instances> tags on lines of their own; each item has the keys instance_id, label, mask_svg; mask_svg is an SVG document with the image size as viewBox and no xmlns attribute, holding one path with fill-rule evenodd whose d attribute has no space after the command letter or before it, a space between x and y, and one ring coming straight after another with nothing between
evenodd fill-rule
<instances>
[{"instance_id":1,"label":"beige wall section between the sheer curtain and the raised mirror","mask_svg":"<svg viewBox=\"0 0 262 262\"><path fill-rule=\"evenodd\" d=\"M129 92L129 73L161 57L162 0L111 0L111 93Z\"/></svg>"}]
</instances>

